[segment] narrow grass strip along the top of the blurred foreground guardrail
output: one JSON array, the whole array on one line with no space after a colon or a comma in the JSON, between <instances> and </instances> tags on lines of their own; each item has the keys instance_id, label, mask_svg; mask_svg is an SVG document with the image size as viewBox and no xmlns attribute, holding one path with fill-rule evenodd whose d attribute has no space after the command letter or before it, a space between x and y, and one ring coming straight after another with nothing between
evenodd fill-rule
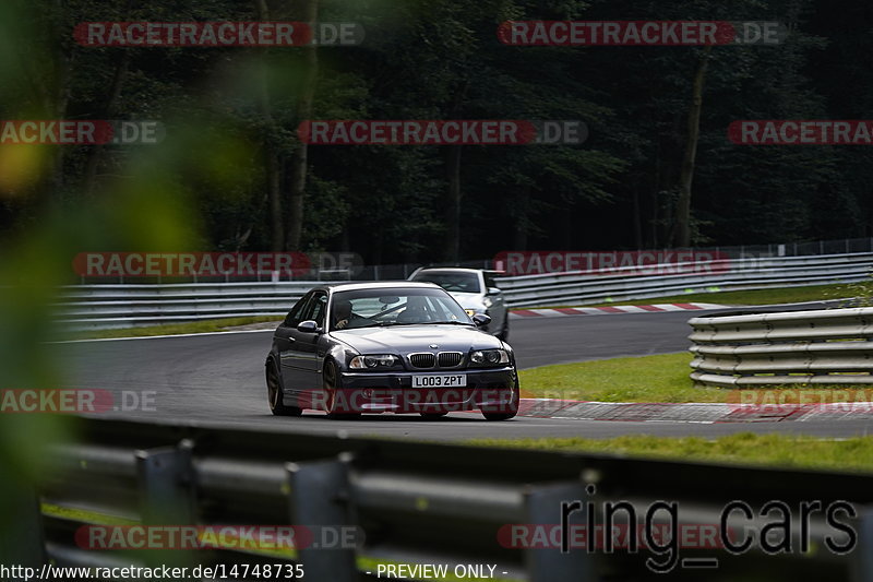
<instances>
[{"instance_id":1,"label":"narrow grass strip along the top of the blurred foreground guardrail","mask_svg":"<svg viewBox=\"0 0 873 582\"><path fill-rule=\"evenodd\" d=\"M596 452L738 465L835 471L873 471L873 437L822 440L813 437L742 432L714 440L698 437L627 436L614 439L476 439L467 444L559 452Z\"/></svg>"}]
</instances>

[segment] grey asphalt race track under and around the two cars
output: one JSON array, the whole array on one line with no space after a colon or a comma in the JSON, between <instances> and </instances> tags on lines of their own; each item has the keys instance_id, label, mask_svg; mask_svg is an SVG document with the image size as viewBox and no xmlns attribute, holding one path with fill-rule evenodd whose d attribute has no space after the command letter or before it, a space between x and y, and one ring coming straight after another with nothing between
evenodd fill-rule
<instances>
[{"instance_id":1,"label":"grey asphalt race track under and around the two cars","mask_svg":"<svg viewBox=\"0 0 873 582\"><path fill-rule=\"evenodd\" d=\"M687 319L698 312L623 313L531 318L513 322L510 343L522 368L681 352L687 348ZM268 428L349 436L421 440L588 437L630 433L715 437L740 431L846 437L873 432L873 421L838 423L630 423L517 417L486 421L457 413L439 420L409 415L371 415L331 420L321 413L274 417L266 405L263 361L272 332L205 334L58 345L70 371L68 388L148 393L153 409L100 416L144 421L172 420L204 426ZM120 399L119 399L120 400Z\"/></svg>"}]
</instances>

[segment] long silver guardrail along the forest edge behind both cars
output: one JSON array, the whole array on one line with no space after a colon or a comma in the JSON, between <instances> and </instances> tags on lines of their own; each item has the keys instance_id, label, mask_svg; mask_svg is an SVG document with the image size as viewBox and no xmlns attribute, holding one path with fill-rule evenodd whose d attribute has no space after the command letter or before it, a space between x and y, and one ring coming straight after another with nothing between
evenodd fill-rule
<instances>
[{"instance_id":1,"label":"long silver guardrail along the forest edge behind both cars","mask_svg":"<svg viewBox=\"0 0 873 582\"><path fill-rule=\"evenodd\" d=\"M648 269L691 270L699 263L668 263ZM644 275L615 268L607 274L553 273L498 280L510 307L585 305L667 295L761 289L864 280L873 253L780 257L715 261L708 274ZM113 329L231 317L284 317L312 281L278 283L199 283L176 285L79 285L62 289L55 306L72 329Z\"/></svg>"}]
</instances>

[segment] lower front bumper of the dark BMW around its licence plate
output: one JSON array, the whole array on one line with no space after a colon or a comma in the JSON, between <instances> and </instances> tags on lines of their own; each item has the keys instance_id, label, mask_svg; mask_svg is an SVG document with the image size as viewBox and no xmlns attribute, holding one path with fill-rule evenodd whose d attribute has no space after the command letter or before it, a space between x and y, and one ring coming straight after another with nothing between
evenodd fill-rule
<instances>
[{"instance_id":1,"label":"lower front bumper of the dark BMW around its licence plate","mask_svg":"<svg viewBox=\"0 0 873 582\"><path fill-rule=\"evenodd\" d=\"M412 388L412 376L464 373L463 388ZM514 367L396 373L344 372L334 393L335 409L348 413L515 412L518 377Z\"/></svg>"}]
</instances>

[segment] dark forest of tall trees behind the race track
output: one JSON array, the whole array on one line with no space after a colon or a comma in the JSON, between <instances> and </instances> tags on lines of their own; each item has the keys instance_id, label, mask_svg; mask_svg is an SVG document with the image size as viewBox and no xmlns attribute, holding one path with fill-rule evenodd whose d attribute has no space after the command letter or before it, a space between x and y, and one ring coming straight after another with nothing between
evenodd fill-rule
<instances>
[{"instance_id":1,"label":"dark forest of tall trees behind the race track","mask_svg":"<svg viewBox=\"0 0 873 582\"><path fill-rule=\"evenodd\" d=\"M14 45L0 43L0 118L162 120L166 143L143 146L153 149L150 163L160 163L137 176L172 191L169 203L187 209L187 244L198 248L179 250L352 251L378 264L502 250L873 236L870 147L727 140L737 119L873 118L869 1L12 3L2 17L19 34ZM313 15L360 23L366 41L318 49L86 48L72 36L82 21ZM495 35L506 20L571 19L767 20L790 34L779 46L708 51L509 47ZM704 63L686 215L681 170L694 79ZM578 146L304 149L295 131L307 118L581 119L589 138ZM47 209L111 204L140 163L132 147L46 147L29 162L5 147L0 228L13 234ZM27 178L22 164L40 171ZM3 180L2 173L24 177Z\"/></svg>"}]
</instances>

